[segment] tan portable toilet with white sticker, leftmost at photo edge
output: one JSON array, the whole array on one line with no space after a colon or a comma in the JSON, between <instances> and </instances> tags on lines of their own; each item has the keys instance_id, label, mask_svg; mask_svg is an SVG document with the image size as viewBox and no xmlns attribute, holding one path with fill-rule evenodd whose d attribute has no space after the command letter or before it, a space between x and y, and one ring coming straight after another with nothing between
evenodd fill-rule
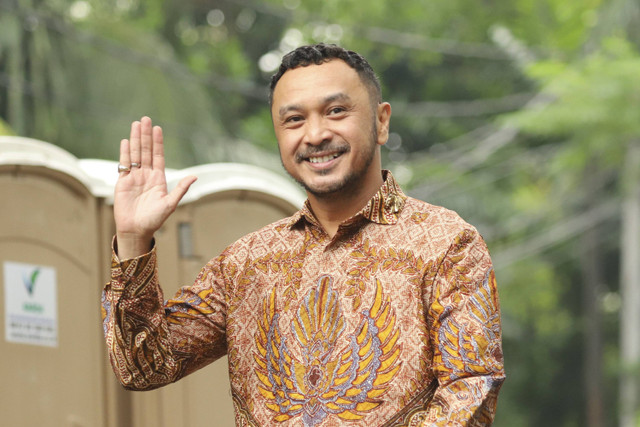
<instances>
[{"instance_id":1,"label":"tan portable toilet with white sticker, leftmost at photo edge","mask_svg":"<svg viewBox=\"0 0 640 427\"><path fill-rule=\"evenodd\" d=\"M98 202L76 163L53 145L0 137L3 425L109 425Z\"/></svg>"}]
</instances>

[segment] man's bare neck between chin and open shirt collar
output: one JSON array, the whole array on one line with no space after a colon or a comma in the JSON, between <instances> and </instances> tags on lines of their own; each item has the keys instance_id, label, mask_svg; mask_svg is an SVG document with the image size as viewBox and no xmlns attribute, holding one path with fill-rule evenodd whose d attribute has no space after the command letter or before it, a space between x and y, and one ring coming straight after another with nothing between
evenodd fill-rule
<instances>
[{"instance_id":1,"label":"man's bare neck between chin and open shirt collar","mask_svg":"<svg viewBox=\"0 0 640 427\"><path fill-rule=\"evenodd\" d=\"M338 232L340 224L360 212L378 192L383 184L380 179L372 181L365 188L357 192L316 196L307 194L311 210L326 233L333 237Z\"/></svg>"}]
</instances>

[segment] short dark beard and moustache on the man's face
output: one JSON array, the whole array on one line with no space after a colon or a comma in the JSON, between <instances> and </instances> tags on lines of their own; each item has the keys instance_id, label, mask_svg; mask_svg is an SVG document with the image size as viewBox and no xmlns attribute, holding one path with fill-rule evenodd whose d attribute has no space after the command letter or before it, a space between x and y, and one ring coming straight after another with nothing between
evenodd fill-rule
<instances>
[{"instance_id":1,"label":"short dark beard and moustache on the man's face","mask_svg":"<svg viewBox=\"0 0 640 427\"><path fill-rule=\"evenodd\" d=\"M284 165L284 162L282 162L282 156L280 156L280 161L282 162L282 166L284 167L285 171L289 174L289 176L293 178L298 184L300 184L307 193L312 194L316 198L329 199L329 198L336 198L336 196L349 197L353 194L356 194L361 188L361 185L360 185L361 181L369 171L369 167L373 162L375 152L376 152L376 147L377 147L377 143L376 143L377 140L378 140L378 128L374 119L373 126L371 129L371 134L370 134L370 144L367 147L368 149L361 153L361 156L358 159L358 162L353 166L353 168L348 173L346 173L339 180L323 186L312 186L310 183L305 182L302 178L295 176L293 173L291 173L291 171L287 169L287 167ZM305 152L296 154L296 162L297 163L303 162L305 161L303 159L308 158L310 155L314 153L319 153L325 150L339 151L341 155L343 155L343 154L349 153L351 151L351 147L347 143L344 143L343 145L342 144L336 145L335 143L332 143L332 142L322 143L318 146L307 149ZM323 170L319 172L319 175L328 175L331 172L332 171L330 169Z\"/></svg>"}]
</instances>

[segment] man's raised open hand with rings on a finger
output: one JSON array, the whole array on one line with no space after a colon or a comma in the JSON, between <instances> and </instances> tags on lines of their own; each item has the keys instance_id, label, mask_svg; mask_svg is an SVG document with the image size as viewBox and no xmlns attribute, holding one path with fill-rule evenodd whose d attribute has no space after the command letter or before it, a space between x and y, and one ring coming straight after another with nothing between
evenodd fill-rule
<instances>
[{"instance_id":1,"label":"man's raised open hand with rings on a finger","mask_svg":"<svg viewBox=\"0 0 640 427\"><path fill-rule=\"evenodd\" d=\"M183 178L170 193L165 177L162 128L149 117L131 124L129 139L120 142L120 172L114 193L118 257L133 258L149 251L153 234L171 215L194 176Z\"/></svg>"}]
</instances>

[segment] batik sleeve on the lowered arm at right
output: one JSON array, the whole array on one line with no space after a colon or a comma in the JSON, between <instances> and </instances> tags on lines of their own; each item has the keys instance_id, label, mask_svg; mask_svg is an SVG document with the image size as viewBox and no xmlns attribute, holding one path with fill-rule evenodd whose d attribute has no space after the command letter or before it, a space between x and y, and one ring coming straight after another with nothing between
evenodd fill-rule
<instances>
[{"instance_id":1,"label":"batik sleeve on the lowered arm at right","mask_svg":"<svg viewBox=\"0 0 640 427\"><path fill-rule=\"evenodd\" d=\"M438 388L422 425L491 425L505 373L495 275L476 230L442 259L427 318Z\"/></svg>"}]
</instances>

